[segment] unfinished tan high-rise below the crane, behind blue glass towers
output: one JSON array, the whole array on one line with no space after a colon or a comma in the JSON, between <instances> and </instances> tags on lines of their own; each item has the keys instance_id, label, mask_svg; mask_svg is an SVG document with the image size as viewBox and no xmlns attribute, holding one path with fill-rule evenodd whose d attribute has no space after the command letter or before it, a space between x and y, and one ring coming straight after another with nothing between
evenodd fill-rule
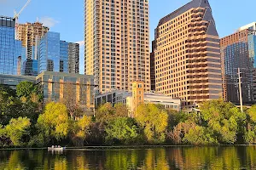
<instances>
[{"instance_id":1,"label":"unfinished tan high-rise below the crane, behind blue glass towers","mask_svg":"<svg viewBox=\"0 0 256 170\"><path fill-rule=\"evenodd\" d=\"M26 59L38 59L38 43L48 31L49 28L39 22L18 24L17 38L22 42L22 46L26 48Z\"/></svg>"}]
</instances>

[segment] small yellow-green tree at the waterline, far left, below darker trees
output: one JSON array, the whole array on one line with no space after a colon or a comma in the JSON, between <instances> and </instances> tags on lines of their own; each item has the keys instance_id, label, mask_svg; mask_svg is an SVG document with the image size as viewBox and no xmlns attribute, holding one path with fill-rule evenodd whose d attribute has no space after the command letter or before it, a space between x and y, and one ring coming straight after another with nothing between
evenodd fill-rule
<instances>
[{"instance_id":1,"label":"small yellow-green tree at the waterline, far left, below darker trees","mask_svg":"<svg viewBox=\"0 0 256 170\"><path fill-rule=\"evenodd\" d=\"M23 146L29 138L30 119L19 117L11 119L9 125L5 127L6 133L14 146ZM26 142L24 142L26 141Z\"/></svg>"}]
</instances>

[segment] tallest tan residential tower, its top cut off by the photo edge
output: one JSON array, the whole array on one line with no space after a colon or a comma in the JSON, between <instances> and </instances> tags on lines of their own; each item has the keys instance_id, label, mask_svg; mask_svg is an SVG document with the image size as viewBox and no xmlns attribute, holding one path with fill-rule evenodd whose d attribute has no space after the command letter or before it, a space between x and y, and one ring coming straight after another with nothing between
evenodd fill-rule
<instances>
[{"instance_id":1,"label":"tallest tan residential tower, its top cut off by the photo edge","mask_svg":"<svg viewBox=\"0 0 256 170\"><path fill-rule=\"evenodd\" d=\"M98 92L150 90L148 0L84 0L84 72Z\"/></svg>"}]
</instances>

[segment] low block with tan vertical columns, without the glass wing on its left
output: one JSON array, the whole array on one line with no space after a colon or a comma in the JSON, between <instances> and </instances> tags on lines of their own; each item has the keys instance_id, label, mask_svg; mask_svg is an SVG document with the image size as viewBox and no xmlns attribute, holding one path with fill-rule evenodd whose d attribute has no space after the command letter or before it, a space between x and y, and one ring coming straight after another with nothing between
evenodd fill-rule
<instances>
[{"instance_id":1,"label":"low block with tan vertical columns, without the glass wing on its left","mask_svg":"<svg viewBox=\"0 0 256 170\"><path fill-rule=\"evenodd\" d=\"M94 77L45 71L36 77L43 90L44 100L72 99L87 111L94 111Z\"/></svg>"}]
</instances>

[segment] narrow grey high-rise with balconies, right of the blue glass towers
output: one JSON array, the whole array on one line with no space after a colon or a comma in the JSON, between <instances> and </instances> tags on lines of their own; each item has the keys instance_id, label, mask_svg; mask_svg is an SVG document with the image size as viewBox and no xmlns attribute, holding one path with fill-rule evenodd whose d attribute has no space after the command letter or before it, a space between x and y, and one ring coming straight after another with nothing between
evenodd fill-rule
<instances>
[{"instance_id":1,"label":"narrow grey high-rise with balconies, right of the blue glass towers","mask_svg":"<svg viewBox=\"0 0 256 170\"><path fill-rule=\"evenodd\" d=\"M68 72L79 73L79 43L68 43Z\"/></svg>"}]
</instances>

